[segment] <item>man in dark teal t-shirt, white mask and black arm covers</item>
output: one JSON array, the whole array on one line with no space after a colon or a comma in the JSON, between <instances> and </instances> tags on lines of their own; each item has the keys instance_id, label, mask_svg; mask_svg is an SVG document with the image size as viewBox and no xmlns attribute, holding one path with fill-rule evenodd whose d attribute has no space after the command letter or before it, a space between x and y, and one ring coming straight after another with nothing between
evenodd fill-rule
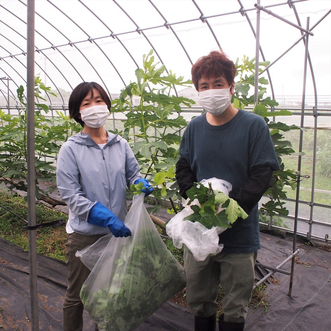
<instances>
[{"instance_id":1,"label":"man in dark teal t-shirt, white mask and black arm covers","mask_svg":"<svg viewBox=\"0 0 331 331\"><path fill-rule=\"evenodd\" d=\"M185 129L176 164L183 198L194 182L216 177L232 184L230 198L249 214L219 235L224 248L217 255L196 261L184 249L186 298L195 315L195 331L215 330L219 284L224 292L219 330L244 330L261 248L258 202L269 187L272 171L279 169L265 120L230 102L235 74L234 63L218 51L192 66L192 81L207 112L193 118Z\"/></svg>"}]
</instances>

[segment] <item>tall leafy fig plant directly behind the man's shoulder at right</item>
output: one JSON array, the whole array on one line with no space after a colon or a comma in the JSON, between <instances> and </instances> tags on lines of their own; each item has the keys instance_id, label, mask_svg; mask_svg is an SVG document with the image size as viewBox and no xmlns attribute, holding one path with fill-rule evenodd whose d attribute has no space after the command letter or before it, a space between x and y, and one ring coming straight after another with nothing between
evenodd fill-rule
<instances>
[{"instance_id":1,"label":"tall leafy fig plant directly behind the man's shoulder at right","mask_svg":"<svg viewBox=\"0 0 331 331\"><path fill-rule=\"evenodd\" d=\"M261 67L267 67L270 62L260 62L259 72L262 71ZM239 58L237 58L237 79L235 79L235 93L232 96L232 104L236 108L245 109L245 107L254 104L254 83L255 83L255 58L249 60L244 56L242 63L239 64ZM294 169L286 168L283 163L282 157L289 155L299 155L292 148L291 142L284 140L282 132L289 130L300 130L300 127L296 125L287 125L285 123L275 121L273 118L279 116L291 116L292 113L288 110L274 110L274 107L278 106L276 100L270 97L264 97L266 87L269 82L264 77L259 78L258 87L258 100L254 105L253 112L262 116L270 129L272 142L280 165L280 170L273 172L273 180L271 187L265 192L265 195L272 197L267 203L263 203L260 208L260 212L268 213L270 215L288 215L288 210L283 205L285 202L281 202L280 199L286 198L286 192L284 186L290 186L293 190L296 188L298 173ZM253 93L250 93L253 92ZM272 120L270 120L272 118ZM301 153L303 155L303 153Z\"/></svg>"}]
</instances>

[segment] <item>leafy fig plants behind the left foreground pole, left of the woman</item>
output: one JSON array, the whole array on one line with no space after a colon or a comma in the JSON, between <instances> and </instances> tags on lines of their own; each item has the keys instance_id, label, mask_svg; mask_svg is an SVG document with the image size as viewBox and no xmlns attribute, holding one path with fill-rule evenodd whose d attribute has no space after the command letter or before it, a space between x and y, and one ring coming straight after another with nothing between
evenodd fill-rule
<instances>
[{"instance_id":1,"label":"leafy fig plants behind the left foreground pole, left of the woman","mask_svg":"<svg viewBox=\"0 0 331 331\"><path fill-rule=\"evenodd\" d=\"M46 87L39 76L35 77L36 100L45 100L42 91L56 96ZM27 191L27 122L26 103L24 102L24 87L17 89L20 105L17 115L6 114L0 110L0 185L7 190ZM49 112L46 104L35 102L35 169L36 198L53 206L63 204L51 199L48 194L56 189L55 158L61 143L68 137L80 131L80 126L69 120L68 116L56 112L56 117L47 117ZM41 182L53 183L45 189Z\"/></svg>"}]
</instances>

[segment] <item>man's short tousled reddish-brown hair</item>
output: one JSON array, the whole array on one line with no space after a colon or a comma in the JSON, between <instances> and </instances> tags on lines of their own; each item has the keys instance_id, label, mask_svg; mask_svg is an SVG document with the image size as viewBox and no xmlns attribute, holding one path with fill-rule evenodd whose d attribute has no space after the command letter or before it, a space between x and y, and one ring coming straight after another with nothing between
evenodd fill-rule
<instances>
[{"instance_id":1,"label":"man's short tousled reddish-brown hair","mask_svg":"<svg viewBox=\"0 0 331 331\"><path fill-rule=\"evenodd\" d=\"M211 78L224 76L229 85L233 83L237 69L224 53L212 51L208 55L201 57L191 69L192 81L197 89L201 77Z\"/></svg>"}]
</instances>

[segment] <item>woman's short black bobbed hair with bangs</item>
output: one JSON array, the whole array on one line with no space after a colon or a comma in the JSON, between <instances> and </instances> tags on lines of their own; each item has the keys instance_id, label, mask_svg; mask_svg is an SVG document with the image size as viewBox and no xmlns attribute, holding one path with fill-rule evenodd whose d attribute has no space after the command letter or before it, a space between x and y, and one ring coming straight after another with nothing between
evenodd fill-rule
<instances>
[{"instance_id":1,"label":"woman's short black bobbed hair with bangs","mask_svg":"<svg viewBox=\"0 0 331 331\"><path fill-rule=\"evenodd\" d=\"M104 90L104 88L96 82L82 82L78 84L72 91L69 98L69 117L73 118L82 127L85 126L84 122L79 118L79 107L86 95L91 92L93 98L93 89L96 89L103 101L107 104L108 110L110 111L112 105L111 100Z\"/></svg>"}]
</instances>

